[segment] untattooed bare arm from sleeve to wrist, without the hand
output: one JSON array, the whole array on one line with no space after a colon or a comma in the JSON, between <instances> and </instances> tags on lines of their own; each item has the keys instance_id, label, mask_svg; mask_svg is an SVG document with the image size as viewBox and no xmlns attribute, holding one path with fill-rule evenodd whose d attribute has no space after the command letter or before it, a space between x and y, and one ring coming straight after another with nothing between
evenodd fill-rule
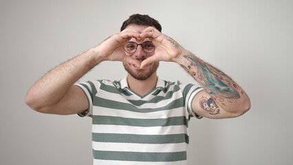
<instances>
[{"instance_id":1,"label":"untattooed bare arm from sleeve to wrist, without the hand","mask_svg":"<svg viewBox=\"0 0 293 165\"><path fill-rule=\"evenodd\" d=\"M29 89L25 103L42 113L65 115L85 111L87 98L79 87L72 85L100 63L102 58L96 56L98 52L91 49L55 67Z\"/></svg>"}]
</instances>

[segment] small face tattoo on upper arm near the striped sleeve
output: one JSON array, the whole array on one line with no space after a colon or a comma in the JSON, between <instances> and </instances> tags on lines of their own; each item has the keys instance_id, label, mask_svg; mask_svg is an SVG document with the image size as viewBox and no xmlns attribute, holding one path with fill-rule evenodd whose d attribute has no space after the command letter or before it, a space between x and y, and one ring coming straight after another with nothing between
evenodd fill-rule
<instances>
[{"instance_id":1,"label":"small face tattoo on upper arm near the striped sleeve","mask_svg":"<svg viewBox=\"0 0 293 165\"><path fill-rule=\"evenodd\" d=\"M217 103L215 102L215 100L213 100L213 98L206 98L206 97L202 97L201 99L199 99L199 105L200 107L202 107L202 109L208 111L208 113L210 113L210 115L218 115L219 114L219 106L217 105Z\"/></svg>"}]
</instances>

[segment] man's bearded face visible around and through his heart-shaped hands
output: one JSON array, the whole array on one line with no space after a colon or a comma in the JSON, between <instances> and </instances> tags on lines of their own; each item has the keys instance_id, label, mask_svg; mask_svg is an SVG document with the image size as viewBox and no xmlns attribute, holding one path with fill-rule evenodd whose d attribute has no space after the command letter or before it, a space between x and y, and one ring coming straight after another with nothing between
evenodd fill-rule
<instances>
[{"instance_id":1,"label":"man's bearded face visible around and through his heart-shaped hands","mask_svg":"<svg viewBox=\"0 0 293 165\"><path fill-rule=\"evenodd\" d=\"M129 27L129 26L131 26L132 28L135 28L135 30L138 30L139 32L141 32L145 28L149 27L147 25L135 25L135 24L128 25L127 27ZM136 39L132 38L129 42L134 42L134 43L140 44L140 43L145 43L146 41L151 41L151 39L144 39L144 41L138 42ZM153 56L155 51L152 53L145 53L142 50L142 45L138 45L137 50L133 54L129 54L127 52L125 52L125 53L127 54L127 56L131 56L132 58L137 59L141 63L142 61L144 61L144 59L149 58L150 56ZM154 63L146 65L142 69L140 69L140 67L138 67L138 66L129 64L127 62L123 62L123 65L124 65L124 68L127 70L127 72L133 78L135 78L137 80L146 80L147 78L149 78L153 74L156 74L156 71L159 66L159 62L156 61Z\"/></svg>"}]
</instances>

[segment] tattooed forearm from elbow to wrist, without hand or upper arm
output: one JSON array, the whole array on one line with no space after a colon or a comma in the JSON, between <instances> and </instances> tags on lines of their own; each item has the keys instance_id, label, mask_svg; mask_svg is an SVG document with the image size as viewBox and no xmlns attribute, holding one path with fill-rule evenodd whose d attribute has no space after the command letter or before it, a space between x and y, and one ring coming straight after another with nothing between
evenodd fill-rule
<instances>
[{"instance_id":1,"label":"tattooed forearm from elbow to wrist, without hand or upper arm","mask_svg":"<svg viewBox=\"0 0 293 165\"><path fill-rule=\"evenodd\" d=\"M248 96L229 76L219 69L186 52L180 65L206 89L211 98L226 111L237 111L246 106ZM241 108L241 107L240 107Z\"/></svg>"}]
</instances>

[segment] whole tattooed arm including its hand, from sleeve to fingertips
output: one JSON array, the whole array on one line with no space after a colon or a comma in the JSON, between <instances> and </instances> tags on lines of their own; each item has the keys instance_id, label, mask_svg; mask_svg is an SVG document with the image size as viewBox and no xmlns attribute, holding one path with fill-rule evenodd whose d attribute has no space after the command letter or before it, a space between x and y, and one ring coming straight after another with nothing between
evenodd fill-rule
<instances>
[{"instance_id":1,"label":"whole tattooed arm including its hand, from sleeve to fingertips","mask_svg":"<svg viewBox=\"0 0 293 165\"><path fill-rule=\"evenodd\" d=\"M195 96L192 108L206 118L233 118L250 109L250 99L237 83L219 69L185 50L155 28L146 28L142 36L153 39L158 47L141 67L153 61L172 61L181 65L205 89Z\"/></svg>"}]
</instances>

